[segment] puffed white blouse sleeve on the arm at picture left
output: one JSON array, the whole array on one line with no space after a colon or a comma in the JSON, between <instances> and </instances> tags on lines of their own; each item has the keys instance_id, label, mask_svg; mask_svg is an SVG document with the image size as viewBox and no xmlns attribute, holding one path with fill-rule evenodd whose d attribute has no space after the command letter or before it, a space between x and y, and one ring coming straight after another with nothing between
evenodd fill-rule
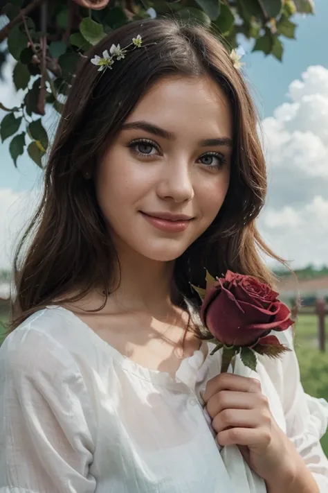
<instances>
[{"instance_id":1,"label":"puffed white blouse sleeve on the arm at picture left","mask_svg":"<svg viewBox=\"0 0 328 493\"><path fill-rule=\"evenodd\" d=\"M0 493L91 493L91 405L73 357L18 328L0 348Z\"/></svg>"}]
</instances>

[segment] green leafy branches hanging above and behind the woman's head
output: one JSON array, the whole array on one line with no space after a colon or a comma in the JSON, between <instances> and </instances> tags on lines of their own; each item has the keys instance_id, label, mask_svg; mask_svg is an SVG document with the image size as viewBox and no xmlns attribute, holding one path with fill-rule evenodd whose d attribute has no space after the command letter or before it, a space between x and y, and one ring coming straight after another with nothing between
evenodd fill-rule
<instances>
[{"instance_id":1,"label":"green leafy branches hanging above and behind the woman's head","mask_svg":"<svg viewBox=\"0 0 328 493\"><path fill-rule=\"evenodd\" d=\"M15 87L26 92L19 108L7 108L0 103L1 109L8 112L1 122L0 134L3 140L14 135L10 153L15 165L27 147L30 157L42 166L48 137L45 130L42 138L31 137L28 128L35 117L43 116L49 105L62 112L60 96L68 94L84 53L112 29L135 19L147 19L150 7L158 17L176 17L212 26L213 32L224 37L230 48L235 48L243 35L253 40L254 51L280 61L283 38L295 38L296 25L291 17L295 12L313 13L313 0L116 0L102 10L82 8L74 0L47 4L44 0L23 18L22 6L26 8L32 3L33 0L4 2L3 12L8 19L18 21L10 29L4 26L0 30L0 42L8 37L8 51L17 60L13 73ZM45 4L46 16L42 15ZM0 64L5 58L6 52L0 52ZM24 132L15 136L21 121ZM25 137L32 141L25 143Z\"/></svg>"}]
</instances>

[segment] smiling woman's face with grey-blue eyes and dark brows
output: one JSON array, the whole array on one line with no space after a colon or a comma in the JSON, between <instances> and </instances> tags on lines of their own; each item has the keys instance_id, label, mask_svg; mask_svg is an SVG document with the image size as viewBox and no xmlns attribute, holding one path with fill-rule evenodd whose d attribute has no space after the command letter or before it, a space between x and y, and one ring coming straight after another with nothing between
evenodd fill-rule
<instances>
[{"instance_id":1,"label":"smiling woman's face with grey-blue eyes and dark brows","mask_svg":"<svg viewBox=\"0 0 328 493\"><path fill-rule=\"evenodd\" d=\"M164 78L140 99L95 179L118 253L171 261L201 236L228 191L232 132L209 78Z\"/></svg>"}]
</instances>

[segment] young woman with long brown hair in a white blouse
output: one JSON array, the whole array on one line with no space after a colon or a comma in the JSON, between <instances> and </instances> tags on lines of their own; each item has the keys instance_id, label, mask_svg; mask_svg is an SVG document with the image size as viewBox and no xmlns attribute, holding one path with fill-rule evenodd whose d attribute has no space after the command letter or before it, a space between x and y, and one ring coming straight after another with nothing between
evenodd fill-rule
<instances>
[{"instance_id":1,"label":"young woman with long brown hair in a white blouse","mask_svg":"<svg viewBox=\"0 0 328 493\"><path fill-rule=\"evenodd\" d=\"M205 29L169 20L128 24L83 60L15 262L1 493L328 491L328 413L294 352L219 374L190 286L204 268L272 284L236 67Z\"/></svg>"}]
</instances>

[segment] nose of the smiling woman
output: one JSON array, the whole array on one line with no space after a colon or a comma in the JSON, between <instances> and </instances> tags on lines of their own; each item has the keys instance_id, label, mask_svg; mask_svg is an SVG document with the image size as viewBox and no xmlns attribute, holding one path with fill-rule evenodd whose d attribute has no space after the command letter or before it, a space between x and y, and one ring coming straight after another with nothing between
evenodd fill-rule
<instances>
[{"instance_id":1,"label":"nose of the smiling woman","mask_svg":"<svg viewBox=\"0 0 328 493\"><path fill-rule=\"evenodd\" d=\"M186 160L164 164L158 181L157 195L176 203L189 202L194 196L192 170Z\"/></svg>"}]
</instances>

